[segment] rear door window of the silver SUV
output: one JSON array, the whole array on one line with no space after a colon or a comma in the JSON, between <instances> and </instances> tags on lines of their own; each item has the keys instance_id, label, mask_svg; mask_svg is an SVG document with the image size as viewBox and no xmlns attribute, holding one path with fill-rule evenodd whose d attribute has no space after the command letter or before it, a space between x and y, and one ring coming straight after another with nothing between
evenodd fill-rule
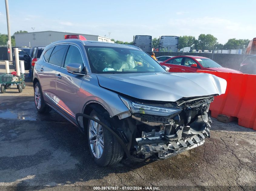
<instances>
[{"instance_id":1,"label":"rear door window of the silver SUV","mask_svg":"<svg viewBox=\"0 0 256 191\"><path fill-rule=\"evenodd\" d=\"M52 51L51 57L49 59L49 63L61 66L62 60L66 51L67 45L58 45Z\"/></svg>"}]
</instances>

